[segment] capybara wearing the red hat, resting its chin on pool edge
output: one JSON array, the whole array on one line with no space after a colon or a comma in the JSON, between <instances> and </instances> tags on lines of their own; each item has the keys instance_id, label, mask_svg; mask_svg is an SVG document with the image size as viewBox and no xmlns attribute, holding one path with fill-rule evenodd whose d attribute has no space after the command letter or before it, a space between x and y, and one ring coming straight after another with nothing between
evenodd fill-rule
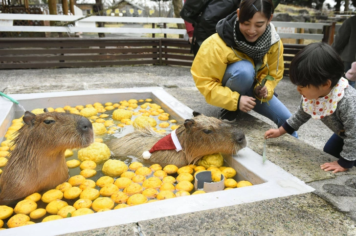
<instances>
[{"instance_id":1,"label":"capybara wearing the red hat, resting its chin on pool edge","mask_svg":"<svg viewBox=\"0 0 356 236\"><path fill-rule=\"evenodd\" d=\"M150 161L162 166L173 164L182 167L196 163L204 155L217 152L236 154L246 147L245 135L236 126L198 112L193 112L193 115L195 117L185 120L176 130L182 150L157 150L152 153ZM111 139L107 145L117 156L141 157L164 136L150 128L136 129L124 137Z\"/></svg>"}]
</instances>

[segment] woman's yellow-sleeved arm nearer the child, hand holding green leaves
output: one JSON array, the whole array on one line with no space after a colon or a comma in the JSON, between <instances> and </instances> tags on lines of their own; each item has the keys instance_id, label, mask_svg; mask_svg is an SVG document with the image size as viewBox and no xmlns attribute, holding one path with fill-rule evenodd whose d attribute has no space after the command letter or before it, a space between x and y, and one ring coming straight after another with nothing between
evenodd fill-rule
<instances>
[{"instance_id":1,"label":"woman's yellow-sleeved arm nearer the child, hand holding green leaves","mask_svg":"<svg viewBox=\"0 0 356 236\"><path fill-rule=\"evenodd\" d=\"M264 63L266 63L267 60L267 64L269 67L269 75L272 76L274 80L273 81L267 80L265 84L267 89L267 96L265 95L266 92L264 93L265 96L257 94L258 90L259 89L262 90L263 88L259 88L258 87L259 84L256 84L255 95L258 97L259 100L261 100L260 99L261 97L270 100L273 96L274 88L277 86L279 81L283 78L283 72L284 72L283 50L284 50L283 43L282 41L279 41L272 45L271 49L267 52L267 56L263 58L265 60ZM265 66L260 72L257 73L257 79L259 80L260 83L268 75L268 67ZM263 101L266 102L266 99L264 99Z\"/></svg>"}]
</instances>

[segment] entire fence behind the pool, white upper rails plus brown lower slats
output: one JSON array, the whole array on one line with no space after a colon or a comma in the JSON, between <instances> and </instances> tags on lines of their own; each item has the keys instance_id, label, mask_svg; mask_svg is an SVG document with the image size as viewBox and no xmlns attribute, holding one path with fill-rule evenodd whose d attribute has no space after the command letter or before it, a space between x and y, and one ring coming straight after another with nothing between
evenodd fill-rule
<instances>
[{"instance_id":1,"label":"entire fence behind the pool, white upper rails plus brown lower slats","mask_svg":"<svg viewBox=\"0 0 356 236\"><path fill-rule=\"evenodd\" d=\"M13 21L59 21L67 26L14 26ZM151 24L152 28L96 27L96 22ZM184 29L167 28L168 23L183 23L180 18L141 18L0 14L0 32L76 32L147 33L152 38L0 38L0 69L59 68L84 66L113 66L127 64L158 64L191 66L190 44L183 39L166 38L167 34L182 35ZM281 38L312 39L332 43L335 23L301 23L272 21L275 27L308 28L322 34L279 33ZM159 25L160 27L157 27ZM163 34L165 38L156 38ZM284 44L285 74L289 63L303 44Z\"/></svg>"}]
</instances>

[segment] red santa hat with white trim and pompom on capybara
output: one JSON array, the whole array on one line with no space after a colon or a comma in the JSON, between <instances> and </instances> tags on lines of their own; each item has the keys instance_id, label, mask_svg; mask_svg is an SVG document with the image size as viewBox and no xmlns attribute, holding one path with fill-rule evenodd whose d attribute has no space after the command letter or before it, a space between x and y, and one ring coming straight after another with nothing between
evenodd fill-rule
<instances>
[{"instance_id":1,"label":"red santa hat with white trim and pompom on capybara","mask_svg":"<svg viewBox=\"0 0 356 236\"><path fill-rule=\"evenodd\" d=\"M164 136L156 144L150 149L149 151L144 151L142 153L142 157L145 160L150 159L152 152L157 150L172 150L175 149L176 151L182 150L182 146L180 146L176 129L174 129L170 134Z\"/></svg>"}]
</instances>

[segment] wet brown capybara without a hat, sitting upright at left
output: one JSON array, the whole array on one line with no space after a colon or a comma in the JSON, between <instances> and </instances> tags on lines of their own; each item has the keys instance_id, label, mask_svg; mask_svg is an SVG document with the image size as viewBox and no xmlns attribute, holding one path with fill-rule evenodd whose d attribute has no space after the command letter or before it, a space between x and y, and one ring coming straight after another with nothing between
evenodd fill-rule
<instances>
[{"instance_id":1,"label":"wet brown capybara without a hat, sitting upright at left","mask_svg":"<svg viewBox=\"0 0 356 236\"><path fill-rule=\"evenodd\" d=\"M14 150L0 177L0 204L52 189L69 178L65 151L94 141L90 121L80 115L26 111Z\"/></svg>"}]
</instances>

